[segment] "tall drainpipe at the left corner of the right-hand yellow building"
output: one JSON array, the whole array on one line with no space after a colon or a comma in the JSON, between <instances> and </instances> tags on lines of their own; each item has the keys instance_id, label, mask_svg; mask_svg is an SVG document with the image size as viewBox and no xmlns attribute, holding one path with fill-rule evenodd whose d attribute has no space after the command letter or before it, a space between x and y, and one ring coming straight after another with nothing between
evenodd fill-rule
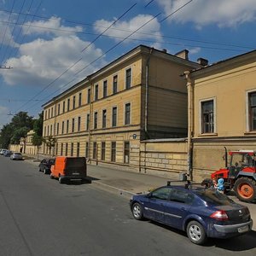
<instances>
[{"instance_id":1,"label":"tall drainpipe at the left corner of the right-hand yellow building","mask_svg":"<svg viewBox=\"0 0 256 256\"><path fill-rule=\"evenodd\" d=\"M194 111L193 111L193 86L191 79L189 77L190 72L184 72L187 79L187 90L188 90L188 170L187 176L189 180L193 180L193 170L192 170L192 157L193 157L193 143L192 143L192 135L193 135L193 120L194 120Z\"/></svg>"}]
</instances>

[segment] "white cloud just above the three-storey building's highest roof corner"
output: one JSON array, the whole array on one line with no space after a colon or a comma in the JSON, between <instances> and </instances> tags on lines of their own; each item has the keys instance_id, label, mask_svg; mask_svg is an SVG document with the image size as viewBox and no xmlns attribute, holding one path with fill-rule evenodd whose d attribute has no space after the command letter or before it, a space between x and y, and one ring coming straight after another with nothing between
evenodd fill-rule
<instances>
[{"instance_id":1,"label":"white cloud just above the three-storey building's highest roof corner","mask_svg":"<svg viewBox=\"0 0 256 256\"><path fill-rule=\"evenodd\" d=\"M140 26L143 26L148 20L151 20L154 16L152 15L137 15L128 21L118 21L116 24L111 26L107 32L104 30L110 26L114 20L96 20L94 29L98 33L104 32L104 35L112 37L116 42L121 41L135 32ZM134 33L130 39L154 39L157 41L161 40L160 23L157 19L151 20L146 26L143 26L137 33ZM127 40L129 42L129 40Z\"/></svg>"}]
</instances>

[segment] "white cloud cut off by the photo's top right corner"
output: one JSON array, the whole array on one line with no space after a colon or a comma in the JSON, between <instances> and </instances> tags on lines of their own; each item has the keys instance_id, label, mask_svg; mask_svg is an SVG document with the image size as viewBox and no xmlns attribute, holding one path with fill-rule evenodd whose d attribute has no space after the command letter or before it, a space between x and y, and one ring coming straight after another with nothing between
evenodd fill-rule
<instances>
[{"instance_id":1,"label":"white cloud cut off by the photo's top right corner","mask_svg":"<svg viewBox=\"0 0 256 256\"><path fill-rule=\"evenodd\" d=\"M172 14L188 0L157 0L165 15ZM255 0L194 0L180 9L169 19L178 23L194 22L198 28L209 24L218 26L237 26L252 22L256 18Z\"/></svg>"}]
</instances>

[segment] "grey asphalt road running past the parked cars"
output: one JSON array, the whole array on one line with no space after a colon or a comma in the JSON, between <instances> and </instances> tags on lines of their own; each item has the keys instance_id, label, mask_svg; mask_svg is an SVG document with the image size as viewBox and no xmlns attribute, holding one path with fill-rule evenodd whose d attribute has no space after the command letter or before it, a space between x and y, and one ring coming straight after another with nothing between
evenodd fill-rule
<instances>
[{"instance_id":1,"label":"grey asphalt road running past the parked cars","mask_svg":"<svg viewBox=\"0 0 256 256\"><path fill-rule=\"evenodd\" d=\"M131 217L128 201L93 183L59 184L0 156L0 255L256 255L256 232L192 244L181 231Z\"/></svg>"}]
</instances>

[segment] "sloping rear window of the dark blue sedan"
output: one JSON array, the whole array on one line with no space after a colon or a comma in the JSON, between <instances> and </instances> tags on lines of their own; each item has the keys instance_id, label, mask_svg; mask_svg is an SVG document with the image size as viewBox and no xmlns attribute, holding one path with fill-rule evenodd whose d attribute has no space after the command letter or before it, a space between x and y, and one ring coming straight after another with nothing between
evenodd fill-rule
<instances>
[{"instance_id":1,"label":"sloping rear window of the dark blue sedan","mask_svg":"<svg viewBox=\"0 0 256 256\"><path fill-rule=\"evenodd\" d=\"M228 196L218 192L215 189L202 189L195 192L203 201L207 204L218 205L218 206L229 206L234 204Z\"/></svg>"}]
</instances>

